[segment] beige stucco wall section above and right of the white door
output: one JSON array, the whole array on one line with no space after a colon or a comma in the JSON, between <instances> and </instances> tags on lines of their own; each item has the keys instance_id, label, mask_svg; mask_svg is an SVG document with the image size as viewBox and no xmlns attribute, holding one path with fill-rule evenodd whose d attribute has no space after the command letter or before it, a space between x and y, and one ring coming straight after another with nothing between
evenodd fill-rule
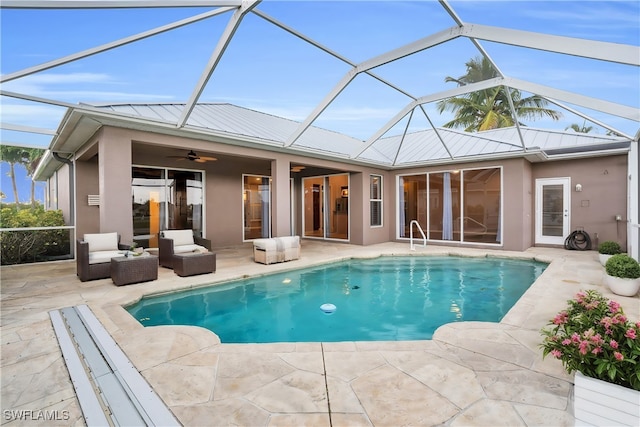
<instances>
[{"instance_id":1,"label":"beige stucco wall section above and right of the white door","mask_svg":"<svg viewBox=\"0 0 640 427\"><path fill-rule=\"evenodd\" d=\"M627 155L537 163L533 179L571 178L571 230L582 228L596 240L627 245ZM576 184L582 191L576 192ZM616 215L622 221L616 221Z\"/></svg>"}]
</instances>

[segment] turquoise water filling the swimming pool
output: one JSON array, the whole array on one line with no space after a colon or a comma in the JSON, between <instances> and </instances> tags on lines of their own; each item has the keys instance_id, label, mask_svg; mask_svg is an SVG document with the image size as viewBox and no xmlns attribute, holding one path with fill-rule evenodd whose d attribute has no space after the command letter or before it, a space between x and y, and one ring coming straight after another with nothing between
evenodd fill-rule
<instances>
[{"instance_id":1,"label":"turquoise water filling the swimming pool","mask_svg":"<svg viewBox=\"0 0 640 427\"><path fill-rule=\"evenodd\" d=\"M509 259L381 257L143 298L145 326L197 325L223 343L431 339L439 326L498 322L547 264ZM333 304L326 314L320 307Z\"/></svg>"}]
</instances>

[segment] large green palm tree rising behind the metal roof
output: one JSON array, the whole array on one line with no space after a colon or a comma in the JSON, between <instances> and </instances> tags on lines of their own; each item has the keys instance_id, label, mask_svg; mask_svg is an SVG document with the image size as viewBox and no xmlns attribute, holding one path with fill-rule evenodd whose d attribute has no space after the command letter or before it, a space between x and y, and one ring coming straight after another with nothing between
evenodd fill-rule
<instances>
[{"instance_id":1,"label":"large green palm tree rising behind the metal roof","mask_svg":"<svg viewBox=\"0 0 640 427\"><path fill-rule=\"evenodd\" d=\"M476 57L466 64L467 73L459 78L446 77L445 82L454 82L458 86L476 83L498 77L497 70L486 57ZM508 89L511 95L516 117L509 106L508 94L503 86L497 86L465 95L445 99L437 104L438 112L451 111L455 118L443 126L446 128L464 128L467 132L483 131L513 126L515 121L524 125L520 119L535 120L550 117L558 120L562 116L558 111L547 108L544 98L533 95L522 97L517 89Z\"/></svg>"}]
</instances>

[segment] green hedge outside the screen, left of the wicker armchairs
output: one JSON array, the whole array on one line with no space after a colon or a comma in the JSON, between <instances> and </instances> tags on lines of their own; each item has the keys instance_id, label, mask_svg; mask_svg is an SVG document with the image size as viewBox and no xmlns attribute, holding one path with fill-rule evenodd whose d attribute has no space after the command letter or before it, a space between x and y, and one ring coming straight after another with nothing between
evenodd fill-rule
<instances>
[{"instance_id":1,"label":"green hedge outside the screen, left of the wicker armchairs","mask_svg":"<svg viewBox=\"0 0 640 427\"><path fill-rule=\"evenodd\" d=\"M1 228L64 226L62 211L45 211L42 206L21 208L4 205L0 210ZM0 232L0 263L24 264L71 253L69 230L30 230Z\"/></svg>"}]
</instances>

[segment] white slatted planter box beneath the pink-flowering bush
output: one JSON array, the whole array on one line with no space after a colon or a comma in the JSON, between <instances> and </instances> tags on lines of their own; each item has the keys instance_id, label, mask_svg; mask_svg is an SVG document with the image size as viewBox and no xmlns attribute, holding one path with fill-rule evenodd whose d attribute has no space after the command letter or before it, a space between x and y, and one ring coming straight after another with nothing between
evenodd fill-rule
<instances>
[{"instance_id":1,"label":"white slatted planter box beneath the pink-flowering bush","mask_svg":"<svg viewBox=\"0 0 640 427\"><path fill-rule=\"evenodd\" d=\"M640 425L640 391L576 372L574 389L576 426Z\"/></svg>"}]
</instances>

